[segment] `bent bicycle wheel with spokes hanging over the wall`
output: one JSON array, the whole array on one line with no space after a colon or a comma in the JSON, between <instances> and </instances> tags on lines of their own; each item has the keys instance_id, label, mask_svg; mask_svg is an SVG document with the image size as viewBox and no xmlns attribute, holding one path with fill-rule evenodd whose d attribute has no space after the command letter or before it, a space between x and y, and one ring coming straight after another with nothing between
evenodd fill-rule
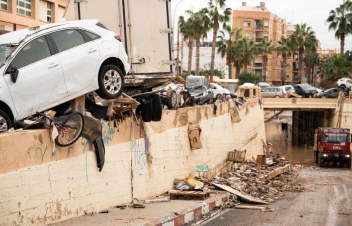
<instances>
[{"instance_id":1,"label":"bent bicycle wheel with spokes hanging over the wall","mask_svg":"<svg viewBox=\"0 0 352 226\"><path fill-rule=\"evenodd\" d=\"M67 147L78 140L83 131L84 120L80 112L58 118L58 121L63 125L57 126L59 135L55 139L55 144L59 147Z\"/></svg>"}]
</instances>

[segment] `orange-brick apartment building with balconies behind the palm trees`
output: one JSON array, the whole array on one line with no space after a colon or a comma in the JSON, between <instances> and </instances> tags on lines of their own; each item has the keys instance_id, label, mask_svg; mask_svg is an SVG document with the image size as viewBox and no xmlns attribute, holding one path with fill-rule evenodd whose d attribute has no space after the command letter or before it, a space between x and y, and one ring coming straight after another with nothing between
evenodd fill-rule
<instances>
[{"instance_id":1,"label":"orange-brick apartment building with balconies behind the palm trees","mask_svg":"<svg viewBox=\"0 0 352 226\"><path fill-rule=\"evenodd\" d=\"M249 7L242 3L240 10L233 11L233 27L241 28L243 36L254 39L259 44L263 39L271 40L274 47L278 46L281 37L287 37L287 22L285 19L269 12L266 4L261 2L259 6ZM282 57L274 51L270 54L267 65L267 81L272 84L281 83ZM255 57L248 70L263 76L263 62L261 56ZM290 80L290 76L287 76Z\"/></svg>"}]
</instances>

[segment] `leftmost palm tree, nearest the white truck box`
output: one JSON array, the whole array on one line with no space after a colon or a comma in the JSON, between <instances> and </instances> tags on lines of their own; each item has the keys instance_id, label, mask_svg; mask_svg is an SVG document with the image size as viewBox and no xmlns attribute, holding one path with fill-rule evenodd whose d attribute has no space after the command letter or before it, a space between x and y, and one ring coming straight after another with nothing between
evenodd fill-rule
<instances>
[{"instance_id":1,"label":"leftmost palm tree, nearest the white truck box","mask_svg":"<svg viewBox=\"0 0 352 226\"><path fill-rule=\"evenodd\" d=\"M194 22L192 18L185 20L183 16L179 18L180 32L183 34L185 40L188 40L188 74L192 73L192 54L194 44Z\"/></svg>"}]
</instances>

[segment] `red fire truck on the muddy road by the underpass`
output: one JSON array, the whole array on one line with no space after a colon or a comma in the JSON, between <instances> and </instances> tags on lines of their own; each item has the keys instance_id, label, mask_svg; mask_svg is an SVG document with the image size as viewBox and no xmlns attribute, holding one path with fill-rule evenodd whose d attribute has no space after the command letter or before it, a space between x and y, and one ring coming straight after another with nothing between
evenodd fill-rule
<instances>
[{"instance_id":1,"label":"red fire truck on the muddy road by the underpass","mask_svg":"<svg viewBox=\"0 0 352 226\"><path fill-rule=\"evenodd\" d=\"M329 166L329 162L339 162L351 167L351 136L349 129L318 128L314 134L315 162L320 167Z\"/></svg>"}]
</instances>

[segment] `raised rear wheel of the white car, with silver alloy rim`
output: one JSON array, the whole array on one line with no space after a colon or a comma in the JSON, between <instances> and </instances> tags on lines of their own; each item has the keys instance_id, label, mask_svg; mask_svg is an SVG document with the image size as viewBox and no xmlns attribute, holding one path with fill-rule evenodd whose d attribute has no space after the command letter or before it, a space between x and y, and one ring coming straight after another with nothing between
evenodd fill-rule
<instances>
[{"instance_id":1,"label":"raised rear wheel of the white car, with silver alloy rim","mask_svg":"<svg viewBox=\"0 0 352 226\"><path fill-rule=\"evenodd\" d=\"M104 99L115 99L124 89L124 74L116 65L103 65L99 72L97 94ZM108 79L108 80L107 80Z\"/></svg>"}]
</instances>

